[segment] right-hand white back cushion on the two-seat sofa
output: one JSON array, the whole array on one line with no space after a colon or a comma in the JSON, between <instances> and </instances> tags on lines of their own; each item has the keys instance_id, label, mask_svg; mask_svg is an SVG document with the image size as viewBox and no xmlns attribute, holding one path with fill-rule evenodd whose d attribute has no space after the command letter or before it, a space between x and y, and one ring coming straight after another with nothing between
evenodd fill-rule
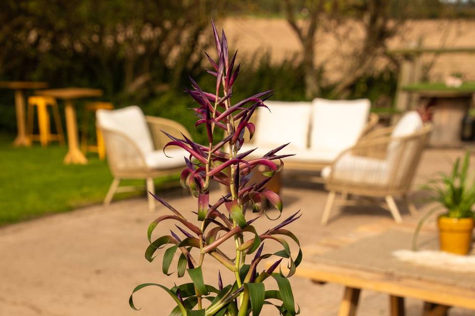
<instances>
[{"instance_id":1,"label":"right-hand white back cushion on the two-seat sofa","mask_svg":"<svg viewBox=\"0 0 475 316\"><path fill-rule=\"evenodd\" d=\"M355 145L368 121L370 107L368 99L314 99L310 148L343 151Z\"/></svg>"}]
</instances>

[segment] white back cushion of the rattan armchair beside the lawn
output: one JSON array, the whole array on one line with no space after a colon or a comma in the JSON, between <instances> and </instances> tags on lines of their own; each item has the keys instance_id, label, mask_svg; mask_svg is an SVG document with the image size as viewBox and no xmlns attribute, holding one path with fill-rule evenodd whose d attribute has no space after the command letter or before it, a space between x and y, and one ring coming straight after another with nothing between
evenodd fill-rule
<instances>
[{"instance_id":1,"label":"white back cushion of the rattan armchair beside the lawn","mask_svg":"<svg viewBox=\"0 0 475 316\"><path fill-rule=\"evenodd\" d=\"M153 142L145 116L138 106L133 105L119 110L97 110L96 118L99 126L126 134L143 154L153 151Z\"/></svg>"}]
</instances>

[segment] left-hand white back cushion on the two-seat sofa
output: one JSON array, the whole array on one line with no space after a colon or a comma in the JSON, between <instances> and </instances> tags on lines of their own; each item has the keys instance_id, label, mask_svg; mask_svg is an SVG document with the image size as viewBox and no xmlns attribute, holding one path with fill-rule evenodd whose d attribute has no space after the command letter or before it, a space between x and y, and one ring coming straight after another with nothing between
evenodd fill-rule
<instances>
[{"instance_id":1,"label":"left-hand white back cushion on the two-seat sofa","mask_svg":"<svg viewBox=\"0 0 475 316\"><path fill-rule=\"evenodd\" d=\"M257 109L256 133L257 146L280 146L290 143L293 148L305 149L308 143L310 102L264 102Z\"/></svg>"}]
</instances>

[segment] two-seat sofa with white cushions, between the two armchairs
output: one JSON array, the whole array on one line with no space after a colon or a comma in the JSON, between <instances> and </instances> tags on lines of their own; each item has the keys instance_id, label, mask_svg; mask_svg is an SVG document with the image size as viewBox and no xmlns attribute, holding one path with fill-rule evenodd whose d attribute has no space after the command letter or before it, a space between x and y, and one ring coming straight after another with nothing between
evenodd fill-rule
<instances>
[{"instance_id":1,"label":"two-seat sofa with white cushions, between the two armchairs","mask_svg":"<svg viewBox=\"0 0 475 316\"><path fill-rule=\"evenodd\" d=\"M290 143L280 154L285 169L321 171L345 149L354 146L378 123L370 114L371 103L360 100L325 100L312 102L266 101L270 111L258 108L253 122L254 137L240 149L257 149L250 157L261 157L282 144Z\"/></svg>"}]
</instances>

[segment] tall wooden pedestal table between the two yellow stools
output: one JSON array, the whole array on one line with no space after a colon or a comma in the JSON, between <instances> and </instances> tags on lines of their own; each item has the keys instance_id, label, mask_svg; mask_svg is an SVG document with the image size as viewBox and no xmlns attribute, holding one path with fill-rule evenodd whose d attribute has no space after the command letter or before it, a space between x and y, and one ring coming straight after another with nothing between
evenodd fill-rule
<instances>
[{"instance_id":1,"label":"tall wooden pedestal table between the two yellow stools","mask_svg":"<svg viewBox=\"0 0 475 316\"><path fill-rule=\"evenodd\" d=\"M64 113L66 116L66 131L68 134L68 153L64 157L64 163L86 164L88 159L79 149L78 124L76 109L73 101L81 98L100 97L102 90L90 88L59 88L47 89L37 92L38 95L50 96L55 99L64 100Z\"/></svg>"}]
</instances>

